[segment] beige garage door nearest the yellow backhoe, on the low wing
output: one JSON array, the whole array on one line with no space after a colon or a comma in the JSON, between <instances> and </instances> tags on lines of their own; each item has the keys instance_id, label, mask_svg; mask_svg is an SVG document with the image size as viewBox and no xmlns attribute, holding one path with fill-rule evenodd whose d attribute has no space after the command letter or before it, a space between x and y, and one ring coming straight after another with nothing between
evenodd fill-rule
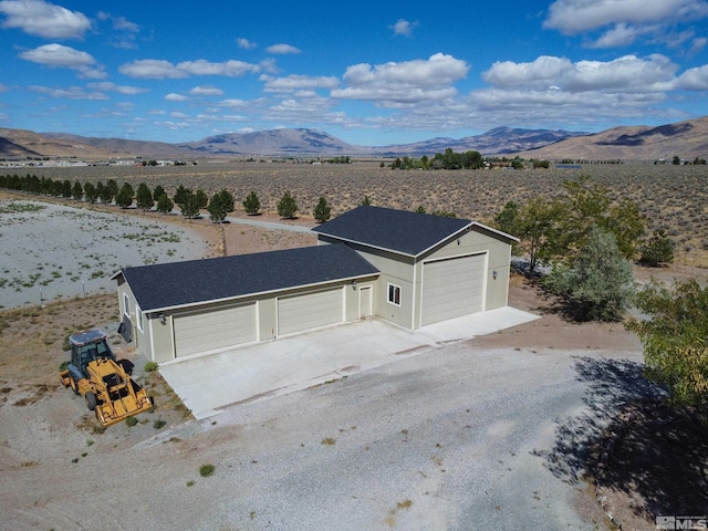
<instances>
[{"instance_id":1,"label":"beige garage door nearest the yellow backhoe, on the low wing","mask_svg":"<svg viewBox=\"0 0 708 531\"><path fill-rule=\"evenodd\" d=\"M175 316L177 357L225 348L257 339L256 303Z\"/></svg>"}]
</instances>

